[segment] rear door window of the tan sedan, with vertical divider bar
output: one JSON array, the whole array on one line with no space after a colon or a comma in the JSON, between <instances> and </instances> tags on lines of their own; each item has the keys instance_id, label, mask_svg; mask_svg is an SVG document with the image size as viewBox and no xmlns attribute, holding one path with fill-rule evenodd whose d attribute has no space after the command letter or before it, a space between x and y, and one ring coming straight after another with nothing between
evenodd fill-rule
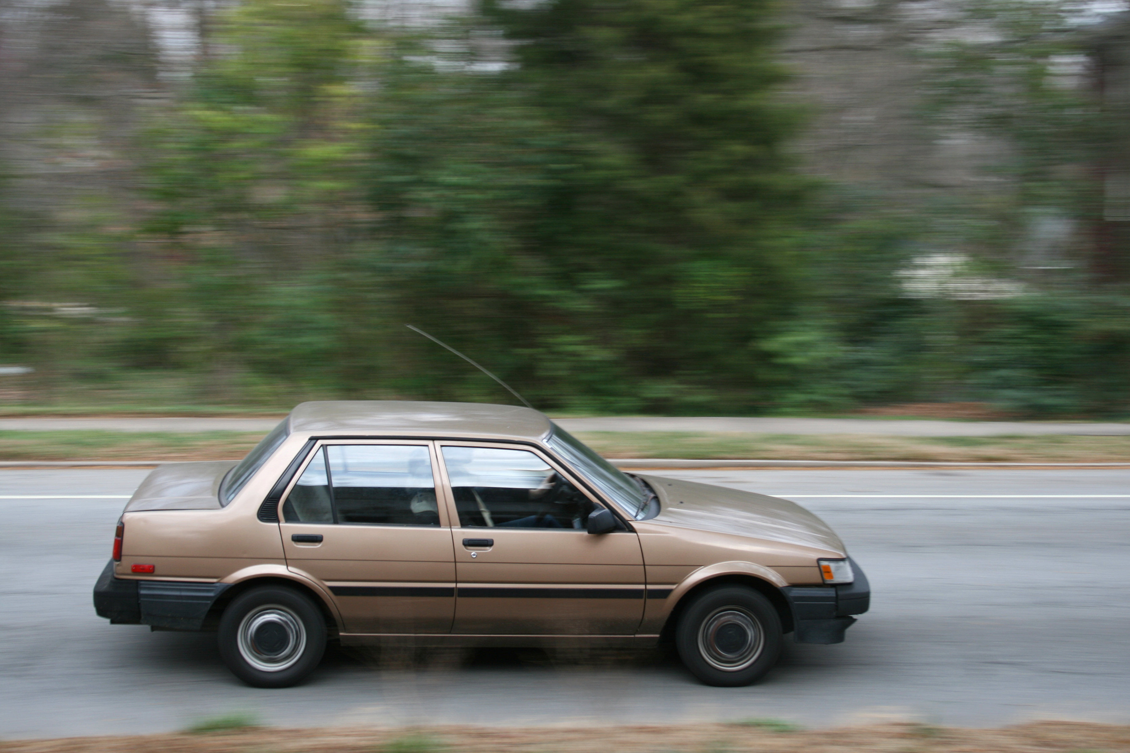
<instances>
[{"instance_id":1,"label":"rear door window of the tan sedan, with vertical divider bar","mask_svg":"<svg viewBox=\"0 0 1130 753\"><path fill-rule=\"evenodd\" d=\"M286 523L440 525L432 457L421 445L328 445L282 504Z\"/></svg>"}]
</instances>

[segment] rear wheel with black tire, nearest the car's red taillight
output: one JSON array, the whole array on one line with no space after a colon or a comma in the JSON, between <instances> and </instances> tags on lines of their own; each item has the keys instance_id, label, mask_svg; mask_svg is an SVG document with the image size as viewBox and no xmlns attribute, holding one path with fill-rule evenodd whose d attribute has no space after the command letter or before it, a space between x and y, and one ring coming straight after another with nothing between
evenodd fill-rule
<instances>
[{"instance_id":1,"label":"rear wheel with black tire, nearest the car's red taillight","mask_svg":"<svg viewBox=\"0 0 1130 753\"><path fill-rule=\"evenodd\" d=\"M224 610L219 655L255 688L289 688L314 671L325 651L325 618L304 594L286 586L251 588Z\"/></svg>"}]
</instances>

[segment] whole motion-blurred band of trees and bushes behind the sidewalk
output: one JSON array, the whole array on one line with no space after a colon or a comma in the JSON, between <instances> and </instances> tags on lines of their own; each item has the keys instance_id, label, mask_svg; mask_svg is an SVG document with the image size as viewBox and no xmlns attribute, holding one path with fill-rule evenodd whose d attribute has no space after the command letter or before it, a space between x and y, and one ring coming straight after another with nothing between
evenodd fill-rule
<instances>
[{"instance_id":1,"label":"whole motion-blurred band of trees and bushes behind the sidewalk","mask_svg":"<svg viewBox=\"0 0 1130 753\"><path fill-rule=\"evenodd\" d=\"M0 0L0 402L1124 417L1130 17Z\"/></svg>"}]
</instances>

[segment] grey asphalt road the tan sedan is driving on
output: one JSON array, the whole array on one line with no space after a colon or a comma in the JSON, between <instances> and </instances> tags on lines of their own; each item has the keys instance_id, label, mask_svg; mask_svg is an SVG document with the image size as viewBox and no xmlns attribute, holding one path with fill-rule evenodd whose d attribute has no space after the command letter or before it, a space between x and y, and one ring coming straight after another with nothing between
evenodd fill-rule
<instances>
[{"instance_id":1,"label":"grey asphalt road the tan sedan is driving on","mask_svg":"<svg viewBox=\"0 0 1130 753\"><path fill-rule=\"evenodd\" d=\"M0 737L148 733L250 711L284 726L790 719L1130 723L1130 471L686 471L797 499L847 542L872 610L786 646L760 684L677 662L539 651L332 653L286 690L238 683L212 634L95 616L90 588L146 471L2 471ZM38 499L34 496L85 498ZM833 497L835 494L836 497Z\"/></svg>"}]
</instances>

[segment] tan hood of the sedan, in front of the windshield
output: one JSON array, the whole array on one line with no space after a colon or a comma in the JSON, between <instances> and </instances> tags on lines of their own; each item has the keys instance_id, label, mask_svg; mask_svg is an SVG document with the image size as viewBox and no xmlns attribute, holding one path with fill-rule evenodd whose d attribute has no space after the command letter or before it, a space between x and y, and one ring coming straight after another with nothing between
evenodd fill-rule
<instances>
[{"instance_id":1,"label":"tan hood of the sedan, in front of the windshield","mask_svg":"<svg viewBox=\"0 0 1130 753\"><path fill-rule=\"evenodd\" d=\"M846 554L828 524L796 502L694 481L641 475L659 494L651 523L753 536Z\"/></svg>"}]
</instances>

